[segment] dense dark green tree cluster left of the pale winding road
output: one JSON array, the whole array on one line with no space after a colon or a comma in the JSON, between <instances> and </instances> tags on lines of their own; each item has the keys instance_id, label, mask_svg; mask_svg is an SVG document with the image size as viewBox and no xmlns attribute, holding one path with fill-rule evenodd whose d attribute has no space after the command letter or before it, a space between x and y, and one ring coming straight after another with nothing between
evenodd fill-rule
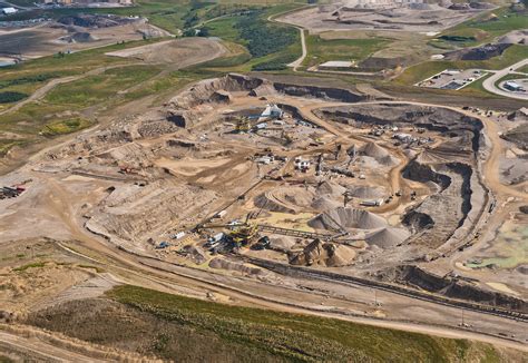
<instances>
[{"instance_id":1,"label":"dense dark green tree cluster left of the pale winding road","mask_svg":"<svg viewBox=\"0 0 528 363\"><path fill-rule=\"evenodd\" d=\"M297 40L299 31L291 27L268 26L260 18L261 12L252 12L241 17L235 28L241 37L247 41L247 50L255 57L264 57L293 45Z\"/></svg>"}]
</instances>

